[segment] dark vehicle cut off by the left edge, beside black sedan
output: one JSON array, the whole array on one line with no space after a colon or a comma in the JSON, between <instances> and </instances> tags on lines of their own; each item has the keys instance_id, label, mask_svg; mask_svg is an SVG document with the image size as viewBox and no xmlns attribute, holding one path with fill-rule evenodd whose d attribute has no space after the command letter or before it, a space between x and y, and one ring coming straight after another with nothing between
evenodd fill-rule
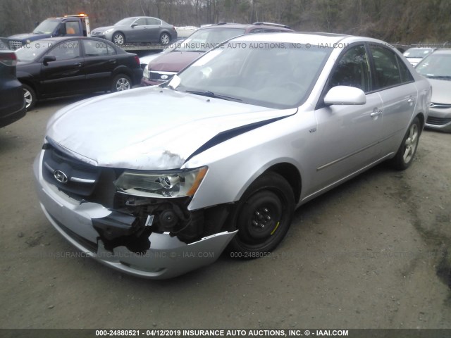
<instances>
[{"instance_id":1,"label":"dark vehicle cut off by the left edge, beside black sedan","mask_svg":"<svg viewBox=\"0 0 451 338\"><path fill-rule=\"evenodd\" d=\"M16 77L16 54L0 42L0 127L25 116L22 84Z\"/></svg>"}]
</instances>

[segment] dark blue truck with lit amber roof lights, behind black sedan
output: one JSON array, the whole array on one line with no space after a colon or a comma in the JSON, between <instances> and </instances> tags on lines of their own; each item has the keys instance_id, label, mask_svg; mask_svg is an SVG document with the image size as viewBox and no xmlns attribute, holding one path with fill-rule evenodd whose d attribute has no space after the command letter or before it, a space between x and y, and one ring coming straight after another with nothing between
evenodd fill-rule
<instances>
[{"instance_id":1,"label":"dark blue truck with lit amber roof lights, behind black sedan","mask_svg":"<svg viewBox=\"0 0 451 338\"><path fill-rule=\"evenodd\" d=\"M8 48L16 50L47 37L89 37L89 35L89 18L86 14L64 15L62 18L48 18L42 21L32 33L8 37Z\"/></svg>"}]
</instances>

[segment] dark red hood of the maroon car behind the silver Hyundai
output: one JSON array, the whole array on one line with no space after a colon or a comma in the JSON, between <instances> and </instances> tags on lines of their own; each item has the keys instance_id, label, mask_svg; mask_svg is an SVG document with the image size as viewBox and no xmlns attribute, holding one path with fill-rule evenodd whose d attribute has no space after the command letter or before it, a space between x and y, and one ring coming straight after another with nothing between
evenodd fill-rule
<instances>
[{"instance_id":1,"label":"dark red hood of the maroon car behind the silver Hyundai","mask_svg":"<svg viewBox=\"0 0 451 338\"><path fill-rule=\"evenodd\" d=\"M149 63L148 68L149 70L178 73L203 54L205 54L204 51L171 51L171 53L155 58Z\"/></svg>"}]
</instances>

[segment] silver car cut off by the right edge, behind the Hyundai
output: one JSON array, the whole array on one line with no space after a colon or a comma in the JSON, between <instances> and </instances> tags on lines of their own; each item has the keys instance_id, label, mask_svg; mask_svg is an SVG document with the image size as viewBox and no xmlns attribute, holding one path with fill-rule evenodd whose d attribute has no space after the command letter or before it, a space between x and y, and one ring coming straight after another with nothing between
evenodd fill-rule
<instances>
[{"instance_id":1,"label":"silver car cut off by the right edge, behind the Hyundai","mask_svg":"<svg viewBox=\"0 0 451 338\"><path fill-rule=\"evenodd\" d=\"M426 127L451 132L451 49L438 49L418 65L416 71L432 85L431 107Z\"/></svg>"}]
</instances>

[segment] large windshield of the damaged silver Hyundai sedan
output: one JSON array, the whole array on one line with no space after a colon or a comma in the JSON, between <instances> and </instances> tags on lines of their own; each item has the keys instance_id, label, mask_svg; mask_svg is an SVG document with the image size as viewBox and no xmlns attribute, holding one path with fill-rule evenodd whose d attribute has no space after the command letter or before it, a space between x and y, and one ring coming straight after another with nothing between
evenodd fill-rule
<instances>
[{"instance_id":1,"label":"large windshield of the damaged silver Hyundai sedan","mask_svg":"<svg viewBox=\"0 0 451 338\"><path fill-rule=\"evenodd\" d=\"M279 42L227 42L166 82L191 92L268 108L294 108L309 96L331 49Z\"/></svg>"}]
</instances>

